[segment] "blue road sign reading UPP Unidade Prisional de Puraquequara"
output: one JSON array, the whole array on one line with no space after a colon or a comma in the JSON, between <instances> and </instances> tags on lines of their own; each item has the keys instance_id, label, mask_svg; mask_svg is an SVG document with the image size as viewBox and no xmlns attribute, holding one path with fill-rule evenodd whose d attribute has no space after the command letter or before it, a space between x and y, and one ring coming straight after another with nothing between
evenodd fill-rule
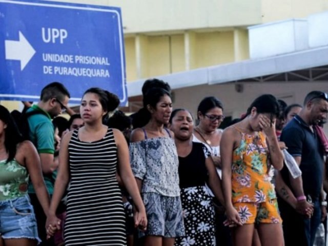
<instances>
[{"instance_id":1,"label":"blue road sign reading UPP Unidade Prisional de Puraquequara","mask_svg":"<svg viewBox=\"0 0 328 246\"><path fill-rule=\"evenodd\" d=\"M127 103L119 8L0 0L0 99L38 100L52 81L71 103L100 87Z\"/></svg>"}]
</instances>

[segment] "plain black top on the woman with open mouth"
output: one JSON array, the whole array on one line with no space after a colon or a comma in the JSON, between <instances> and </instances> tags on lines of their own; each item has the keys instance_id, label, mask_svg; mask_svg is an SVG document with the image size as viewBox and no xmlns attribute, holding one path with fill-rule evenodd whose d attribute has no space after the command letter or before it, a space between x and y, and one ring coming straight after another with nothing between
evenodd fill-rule
<instances>
[{"instance_id":1,"label":"plain black top on the woman with open mouth","mask_svg":"<svg viewBox=\"0 0 328 246\"><path fill-rule=\"evenodd\" d=\"M208 180L205 165L208 150L200 142L193 142L190 154L186 157L179 156L180 188L204 186Z\"/></svg>"}]
</instances>

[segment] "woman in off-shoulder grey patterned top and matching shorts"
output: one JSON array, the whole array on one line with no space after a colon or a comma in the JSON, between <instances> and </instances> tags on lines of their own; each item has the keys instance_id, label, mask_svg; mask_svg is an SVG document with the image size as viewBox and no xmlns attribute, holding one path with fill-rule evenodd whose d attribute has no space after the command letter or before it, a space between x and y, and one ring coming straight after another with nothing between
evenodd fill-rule
<instances>
[{"instance_id":1,"label":"woman in off-shoulder grey patterned top and matching shorts","mask_svg":"<svg viewBox=\"0 0 328 246\"><path fill-rule=\"evenodd\" d=\"M163 83L164 84L164 83ZM173 132L164 126L172 113L171 95L161 88L144 95L149 122L131 134L132 172L145 203L148 226L145 245L172 245L185 235L180 200L178 155Z\"/></svg>"}]
</instances>

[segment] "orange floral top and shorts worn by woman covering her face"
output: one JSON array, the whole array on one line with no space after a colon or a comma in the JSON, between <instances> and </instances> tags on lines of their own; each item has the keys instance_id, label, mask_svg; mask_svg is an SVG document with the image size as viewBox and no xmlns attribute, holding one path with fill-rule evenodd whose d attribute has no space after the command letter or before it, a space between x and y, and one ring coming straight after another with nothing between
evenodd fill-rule
<instances>
[{"instance_id":1,"label":"orange floral top and shorts worn by woman covering her face","mask_svg":"<svg viewBox=\"0 0 328 246\"><path fill-rule=\"evenodd\" d=\"M232 203L243 223L281 223L275 189L268 176L269 149L263 132L241 134L233 152Z\"/></svg>"}]
</instances>

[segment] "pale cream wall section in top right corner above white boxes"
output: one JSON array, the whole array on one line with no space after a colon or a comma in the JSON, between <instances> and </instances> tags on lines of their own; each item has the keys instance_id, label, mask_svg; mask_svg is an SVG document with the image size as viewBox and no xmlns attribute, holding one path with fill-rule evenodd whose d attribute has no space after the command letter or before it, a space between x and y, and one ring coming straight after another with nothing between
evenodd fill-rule
<instances>
[{"instance_id":1,"label":"pale cream wall section in top right corner above white boxes","mask_svg":"<svg viewBox=\"0 0 328 246\"><path fill-rule=\"evenodd\" d=\"M262 0L262 23L304 18L328 10L327 0Z\"/></svg>"}]
</instances>

